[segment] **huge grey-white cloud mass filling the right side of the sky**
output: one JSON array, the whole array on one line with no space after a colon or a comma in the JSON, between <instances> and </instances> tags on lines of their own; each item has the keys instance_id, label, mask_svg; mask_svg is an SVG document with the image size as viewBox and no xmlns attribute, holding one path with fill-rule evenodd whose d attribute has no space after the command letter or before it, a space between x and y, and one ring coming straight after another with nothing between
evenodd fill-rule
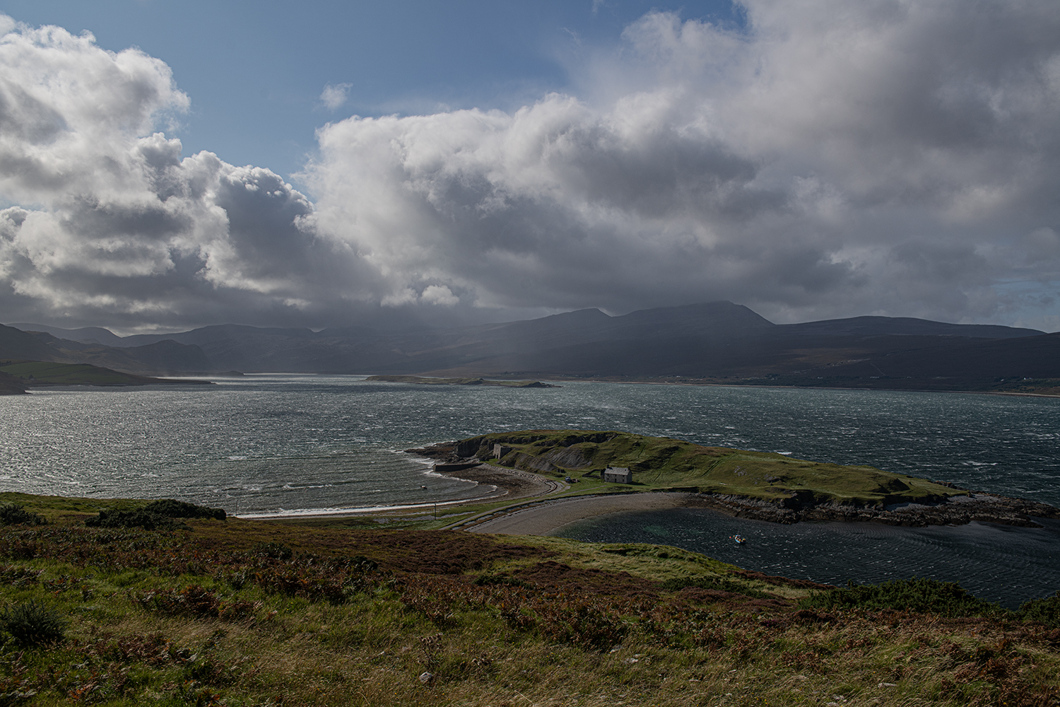
<instances>
[{"instance_id":1,"label":"huge grey-white cloud mass filling the right side of the sky","mask_svg":"<svg viewBox=\"0 0 1060 707\"><path fill-rule=\"evenodd\" d=\"M744 8L644 16L584 98L328 125L317 223L491 306L978 320L1013 268L1055 286L1052 3Z\"/></svg>"}]
</instances>

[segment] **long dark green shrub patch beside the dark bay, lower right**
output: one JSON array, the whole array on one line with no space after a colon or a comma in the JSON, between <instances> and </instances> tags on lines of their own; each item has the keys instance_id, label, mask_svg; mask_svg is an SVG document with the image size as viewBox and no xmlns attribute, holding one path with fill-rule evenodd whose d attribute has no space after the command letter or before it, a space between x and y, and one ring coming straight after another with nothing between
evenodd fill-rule
<instances>
[{"instance_id":1,"label":"long dark green shrub patch beside the dark bay, lower right","mask_svg":"<svg viewBox=\"0 0 1060 707\"><path fill-rule=\"evenodd\" d=\"M810 595L801 608L890 608L946 617L995 616L1000 605L974 597L956 582L925 578L893 580L883 584L854 584Z\"/></svg>"}]
</instances>

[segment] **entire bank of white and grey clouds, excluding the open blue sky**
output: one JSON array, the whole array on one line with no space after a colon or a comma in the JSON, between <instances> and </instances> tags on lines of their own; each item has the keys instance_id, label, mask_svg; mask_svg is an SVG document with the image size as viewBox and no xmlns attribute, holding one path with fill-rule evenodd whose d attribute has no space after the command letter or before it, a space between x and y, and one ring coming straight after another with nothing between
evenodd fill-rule
<instances>
[{"instance_id":1,"label":"entire bank of white and grey clouds, excluding the open blue sky","mask_svg":"<svg viewBox=\"0 0 1060 707\"><path fill-rule=\"evenodd\" d=\"M329 124L315 204L181 160L161 61L5 20L0 196L24 206L0 212L0 306L323 325L724 298L1060 329L1053 0L744 6L740 32L643 17L579 96Z\"/></svg>"}]
</instances>

